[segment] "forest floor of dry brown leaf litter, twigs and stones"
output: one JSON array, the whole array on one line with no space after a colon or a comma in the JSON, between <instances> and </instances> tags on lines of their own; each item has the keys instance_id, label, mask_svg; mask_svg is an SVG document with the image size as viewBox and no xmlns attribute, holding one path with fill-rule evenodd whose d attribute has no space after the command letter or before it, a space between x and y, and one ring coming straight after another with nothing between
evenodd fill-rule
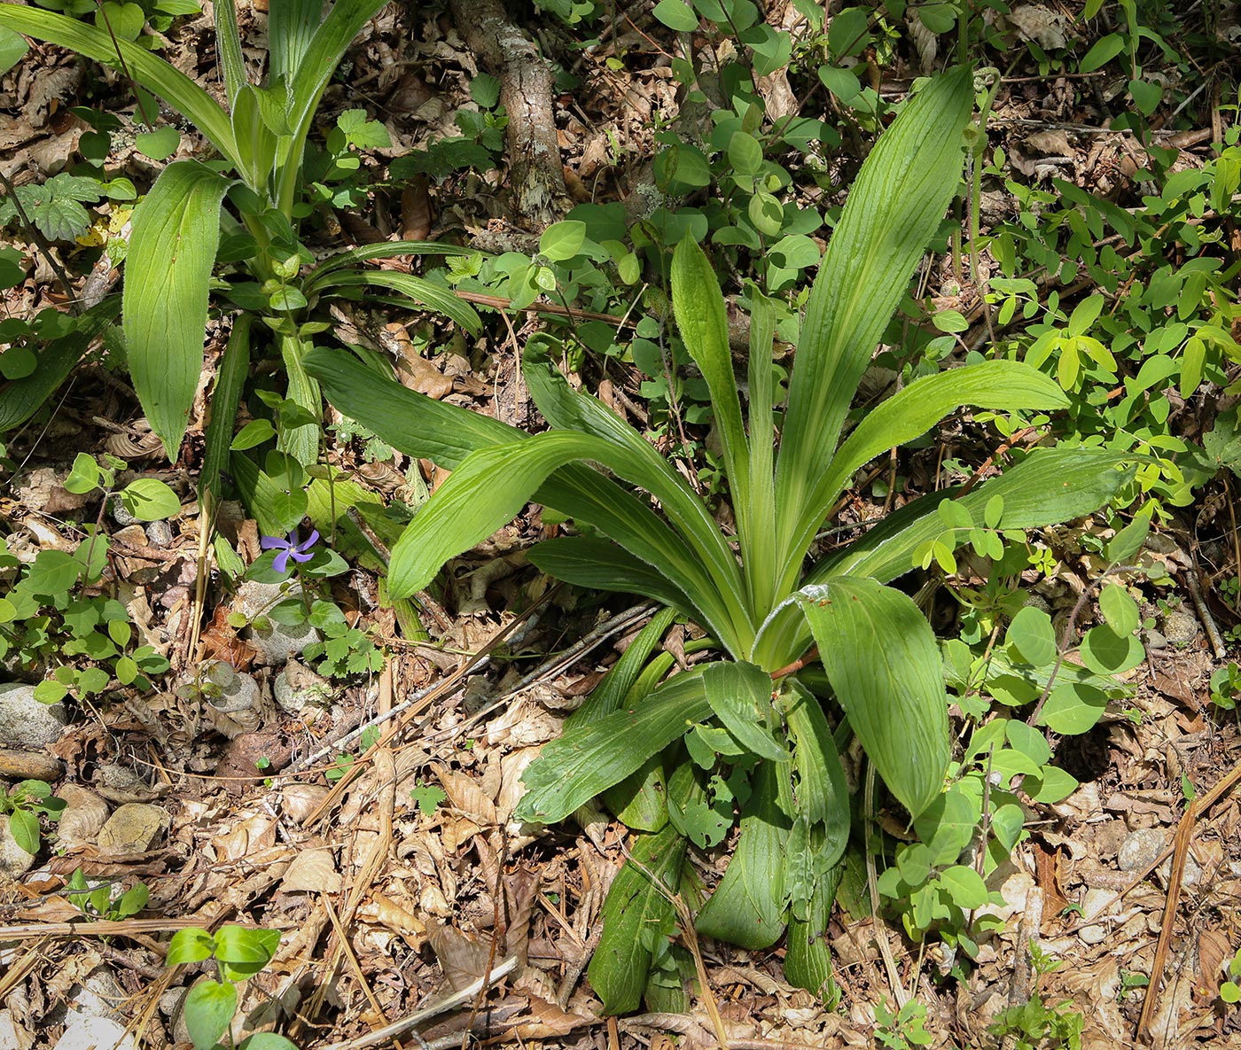
<instances>
[{"instance_id":1,"label":"forest floor of dry brown leaf litter, twigs and stones","mask_svg":"<svg viewBox=\"0 0 1241 1050\"><path fill-rule=\"evenodd\" d=\"M208 25L206 16L185 20L168 52L205 82L215 77ZM259 26L247 16L243 27ZM623 61L608 62L618 56ZM390 10L351 60L347 83L331 84L324 113L366 105L387 125L391 151L367 158L376 169L388 155L454 134L454 114L477 109L469 84L478 66L447 15L402 21ZM567 184L580 200L616 199L627 165L652 149L654 119L671 105L666 68L633 32L578 52L577 62L582 88L555 99ZM911 76L905 67L885 70L885 94ZM10 174L29 166L52 174L69 161L84 124L68 108L89 83L78 60L50 47L38 48L20 77L6 74L0 151L12 158L4 163ZM1018 78L998 98L993 145L1004 145L1026 175L1037 177L1042 165L1111 192L1127 177L1134 145L1132 135L1075 130L1106 124L1096 101L1102 96L1075 93L1065 78ZM132 124L124 103L118 107ZM1205 149L1210 132L1181 135L1184 163L1199 163L1195 150ZM195 148L189 132L182 146ZM114 163L135 180L150 177L137 154ZM422 181L403 197L379 190L339 236L386 238L414 228L428 240L469 243L489 228L509 228L508 201L495 171ZM988 202L999 213L1016 207L1000 187ZM72 254L63 262L86 279ZM949 278L932 294L969 316L970 289ZM20 316L62 298L38 262L30 280L6 293L5 308ZM388 333L412 320L376 316L365 305L339 318ZM534 410L514 382L513 343L522 344L542 319L530 312L511 320L510 333L493 318L468 346L444 334L446 349L421 361L408 382L526 424ZM202 390L220 349L217 339ZM640 403L637 372L613 369L609 382L624 403ZM1232 714L1209 700L1211 674L1227 663L1212 645L1215 621L1227 629L1236 618L1210 588L1195 604L1188 586L1194 571L1207 581L1237 575L1235 526L1221 509L1226 489L1207 487L1164 530L1176 582L1149 608L1157 626L1145 635L1147 660L1129 673L1133 695L1057 752L1081 787L1062 803L1031 809L1030 837L995 880L1006 922L980 938L967 979L943 977L953 959L942 946L910 942L898 922L838 911L835 1009L784 982L782 948L706 942L707 987L695 988L690 1014L604 1018L583 971L604 891L623 860L624 829L531 829L511 813L525 767L649 607L578 595L539 576L522 556L542 529L531 514L454 565L424 618L431 642L400 635L375 601L374 573L355 568L340 577L339 602L387 648L385 668L372 675L324 680L295 657L264 654L228 624L238 596L217 576L191 650L202 417L196 410L187 452L168 467L139 411L120 375L83 369L51 418L9 444L19 469L0 495L0 520L19 555L71 549L81 523L96 520L98 500L63 487L77 452L120 455L132 472L122 480L165 480L182 511L163 531L104 518L117 540L107 588L172 670L151 693L122 689L105 704L72 705L42 747L11 727L15 717L34 724L37 715L12 707L19 714L0 740L10 750L42 751L45 761L55 756L57 776L46 778L68 802L38 863L0 887L0 1046L76 1050L84 1044L57 1039L88 1016L133 1026L143 1045L186 1043L177 1007L202 969L165 968L166 941L156 935L222 922L282 931L272 966L244 985L242 1014L251 1026L283 1018L280 1030L305 1048L371 1045L372 1030L510 958L517 967L501 990L459 998L396 1045L464 1045L473 1031L489 1045L711 1046L714 1000L733 1048L870 1046L876 1008L912 994L927 1007L930 1045L990 1046L999 1045L988 1035L997 1014L1037 993L1047 1009L1085 1016L1081 1045L1090 1050L1129 1045L1148 997L1143 1028L1155 1045L1241 1046L1241 1021L1219 999L1221 967L1241 946L1241 797L1212 793L1235 783L1241 735ZM408 495L406 470L417 470L400 457L372 462L333 431L325 457L385 494ZM874 503L869 491L851 499L856 508ZM258 555L257 526L240 504L226 508L220 527L246 560ZM1056 571L1080 575L1069 556ZM217 710L195 693L218 660L253 683L256 699L244 710ZM32 731L37 736L38 726ZM724 850L701 856L706 885L726 858ZM65 892L77 869L125 889L145 884L141 915L119 925L81 921ZM1031 972L1031 941L1054 968ZM903 990L891 984L889 953ZM1163 979L1155 993L1147 983L1157 954Z\"/></svg>"}]
</instances>

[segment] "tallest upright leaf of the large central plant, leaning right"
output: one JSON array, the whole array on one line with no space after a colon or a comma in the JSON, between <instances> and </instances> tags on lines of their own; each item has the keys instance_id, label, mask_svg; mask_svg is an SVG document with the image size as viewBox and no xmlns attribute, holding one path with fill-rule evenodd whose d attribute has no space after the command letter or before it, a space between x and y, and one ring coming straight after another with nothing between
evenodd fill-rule
<instances>
[{"instance_id":1,"label":"tallest upright leaf of the large central plant, leaning right","mask_svg":"<svg viewBox=\"0 0 1241 1050\"><path fill-rule=\"evenodd\" d=\"M972 102L962 68L906 103L862 164L828 243L807 303L777 462L782 565L858 381L957 190Z\"/></svg>"}]
</instances>

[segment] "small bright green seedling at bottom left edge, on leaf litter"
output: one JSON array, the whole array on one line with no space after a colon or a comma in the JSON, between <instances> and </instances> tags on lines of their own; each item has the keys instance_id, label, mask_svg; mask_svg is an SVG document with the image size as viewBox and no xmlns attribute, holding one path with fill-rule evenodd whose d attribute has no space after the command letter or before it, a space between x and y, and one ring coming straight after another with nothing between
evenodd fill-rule
<instances>
[{"instance_id":1,"label":"small bright green seedling at bottom left edge, on leaf litter","mask_svg":"<svg viewBox=\"0 0 1241 1050\"><path fill-rule=\"evenodd\" d=\"M216 961L218 980L195 984L182 1007L185 1026L194 1050L222 1050L233 1046L221 1038L228 1033L237 1013L237 985L262 971L280 943L279 930L249 930L244 926L222 926L212 936L206 930L180 930L169 945L164 962L168 966ZM236 1044L236 1050L298 1050L283 1035L257 1031Z\"/></svg>"}]
</instances>

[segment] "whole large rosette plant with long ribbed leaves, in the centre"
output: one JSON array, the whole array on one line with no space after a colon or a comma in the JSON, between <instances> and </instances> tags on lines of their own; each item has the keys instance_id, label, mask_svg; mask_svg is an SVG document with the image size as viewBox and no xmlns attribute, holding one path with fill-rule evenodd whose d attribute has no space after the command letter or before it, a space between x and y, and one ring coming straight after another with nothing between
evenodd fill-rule
<instances>
[{"instance_id":1,"label":"whole large rosette plant with long ribbed leaves, in the centre","mask_svg":"<svg viewBox=\"0 0 1241 1050\"><path fill-rule=\"evenodd\" d=\"M747 428L717 278L691 240L676 248L675 318L711 391L735 535L639 433L571 391L539 352L526 354L525 377L551 429L535 437L411 393L343 354L308 356L341 411L395 448L453 469L393 547L390 593L424 587L534 496L582 530L536 546L535 565L586 587L655 596L709 632L699 648L719 658L669 676L671 658L653 654L670 613L656 619L526 773L522 819L553 823L604 793L644 833L613 884L591 963L609 1012L635 1008L644 993L648 1004L680 994L664 936L676 921L670 897L691 892L688 844L719 844L735 808L741 838L699 930L762 947L788 925L789 979L825 987L822 935L851 809L839 746L856 736L911 817L939 797L949 760L934 635L887 582L937 544L951 552L973 541L985 554L997 530L1013 535L1095 509L1128 477L1103 449L1039 449L968 491L902 508L805 568L840 491L875 455L962 406L1066 405L1029 366L984 361L911 384L840 442L875 344L957 189L972 98L964 71L932 79L866 160L810 293L779 416L769 302L750 295ZM803 681L807 664L825 675ZM824 695L812 693L823 681Z\"/></svg>"}]
</instances>

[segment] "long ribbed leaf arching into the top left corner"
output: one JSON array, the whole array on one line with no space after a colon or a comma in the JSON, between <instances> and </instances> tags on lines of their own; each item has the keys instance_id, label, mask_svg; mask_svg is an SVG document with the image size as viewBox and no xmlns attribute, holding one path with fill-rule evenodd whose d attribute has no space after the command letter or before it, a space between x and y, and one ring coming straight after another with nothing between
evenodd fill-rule
<instances>
[{"instance_id":1,"label":"long ribbed leaf arching into the top left corner","mask_svg":"<svg viewBox=\"0 0 1241 1050\"><path fill-rule=\"evenodd\" d=\"M0 26L15 29L35 40L46 40L68 47L78 55L120 68L120 58L134 81L158 94L181 113L228 160L237 164L237 148L228 117L220 104L180 70L125 40L113 41L112 36L94 26L68 19L38 7L0 4ZM238 165L240 166L240 165Z\"/></svg>"}]
</instances>

